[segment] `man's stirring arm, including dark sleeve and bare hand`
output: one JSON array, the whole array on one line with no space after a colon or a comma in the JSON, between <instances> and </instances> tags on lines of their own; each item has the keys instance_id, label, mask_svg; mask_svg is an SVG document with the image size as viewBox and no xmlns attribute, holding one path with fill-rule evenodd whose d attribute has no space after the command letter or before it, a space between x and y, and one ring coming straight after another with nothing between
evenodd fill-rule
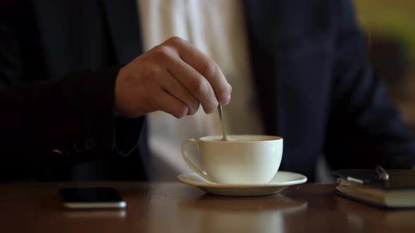
<instances>
[{"instance_id":1,"label":"man's stirring arm, including dark sleeve and bare hand","mask_svg":"<svg viewBox=\"0 0 415 233\"><path fill-rule=\"evenodd\" d=\"M5 128L0 138L4 139L2 144L7 145L8 151L18 148L13 152L18 155L8 160L20 161L30 156L27 163L40 161L41 157L46 157L45 151L51 150L95 149L99 152L113 149L115 112L131 119L142 119L146 113L154 111L182 117L194 114L199 105L205 112L213 112L219 103L226 105L230 100L231 87L215 62L177 37L121 69L72 72L62 79L43 78L41 75L46 72L28 69L33 68L33 61L25 56L26 51L31 51L33 60L44 59L33 51L31 40L27 40L31 37L26 33L41 32L37 32L36 25L27 28L31 21L24 20L27 13L20 12L27 8L17 5L13 2L0 4L0 104L8 112L0 118ZM78 59L76 54L63 55ZM33 81L42 78L48 81ZM136 122L141 124L142 121ZM24 137L20 134L23 132ZM134 146L134 140L129 145ZM26 155L25 152L32 153Z\"/></svg>"}]
</instances>

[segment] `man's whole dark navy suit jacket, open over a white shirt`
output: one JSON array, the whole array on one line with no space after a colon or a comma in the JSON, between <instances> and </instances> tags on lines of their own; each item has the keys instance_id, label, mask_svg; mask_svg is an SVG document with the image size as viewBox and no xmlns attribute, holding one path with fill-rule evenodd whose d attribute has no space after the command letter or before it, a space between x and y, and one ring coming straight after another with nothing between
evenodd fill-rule
<instances>
[{"instance_id":1,"label":"man's whole dark navy suit jacket, open over a white shirt","mask_svg":"<svg viewBox=\"0 0 415 233\"><path fill-rule=\"evenodd\" d=\"M369 66L349 1L244 3L264 131L284 138L281 169L313 180L320 154L335 169L415 164L414 142ZM50 178L53 167L108 158L128 175L143 171L123 167L137 149L120 156L136 145L142 119L113 117L118 65L142 53L135 1L0 5L3 167Z\"/></svg>"}]
</instances>

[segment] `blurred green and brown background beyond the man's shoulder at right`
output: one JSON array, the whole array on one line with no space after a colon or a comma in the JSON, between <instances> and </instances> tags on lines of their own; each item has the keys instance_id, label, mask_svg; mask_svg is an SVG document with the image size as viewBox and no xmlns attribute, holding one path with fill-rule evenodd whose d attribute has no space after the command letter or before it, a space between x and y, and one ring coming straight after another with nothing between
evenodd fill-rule
<instances>
[{"instance_id":1,"label":"blurred green and brown background beyond the man's shoulder at right","mask_svg":"<svg viewBox=\"0 0 415 233\"><path fill-rule=\"evenodd\" d=\"M415 1L354 0L369 55L415 133Z\"/></svg>"}]
</instances>

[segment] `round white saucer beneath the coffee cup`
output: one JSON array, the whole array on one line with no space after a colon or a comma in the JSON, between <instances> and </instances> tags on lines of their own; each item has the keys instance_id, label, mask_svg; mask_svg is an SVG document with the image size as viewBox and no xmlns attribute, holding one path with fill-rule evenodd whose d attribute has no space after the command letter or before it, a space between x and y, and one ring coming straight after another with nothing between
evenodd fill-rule
<instances>
[{"instance_id":1,"label":"round white saucer beneath the coffee cup","mask_svg":"<svg viewBox=\"0 0 415 233\"><path fill-rule=\"evenodd\" d=\"M224 184L205 180L197 173L177 175L180 182L203 189L205 192L224 196L260 196L276 194L290 185L299 185L307 181L305 175L278 171L266 184Z\"/></svg>"}]
</instances>

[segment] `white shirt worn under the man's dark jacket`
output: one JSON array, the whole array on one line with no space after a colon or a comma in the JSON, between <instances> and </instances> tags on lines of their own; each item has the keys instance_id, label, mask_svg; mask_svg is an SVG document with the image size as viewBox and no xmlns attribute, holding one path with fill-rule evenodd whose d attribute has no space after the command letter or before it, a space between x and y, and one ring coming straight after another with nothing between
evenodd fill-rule
<instances>
[{"instance_id":1,"label":"white shirt worn under the man's dark jacket","mask_svg":"<svg viewBox=\"0 0 415 233\"><path fill-rule=\"evenodd\" d=\"M171 36L179 36L208 55L232 86L231 103L224 107L226 132L262 134L251 80L245 15L240 0L137 0L143 50ZM191 172L181 158L181 143L188 138L222 134L217 112L200 107L193 116L176 119L165 112L148 114L148 145L152 180L176 180ZM190 148L189 148L190 149ZM197 160L197 150L193 161ZM197 164L197 163L196 163Z\"/></svg>"}]
</instances>

